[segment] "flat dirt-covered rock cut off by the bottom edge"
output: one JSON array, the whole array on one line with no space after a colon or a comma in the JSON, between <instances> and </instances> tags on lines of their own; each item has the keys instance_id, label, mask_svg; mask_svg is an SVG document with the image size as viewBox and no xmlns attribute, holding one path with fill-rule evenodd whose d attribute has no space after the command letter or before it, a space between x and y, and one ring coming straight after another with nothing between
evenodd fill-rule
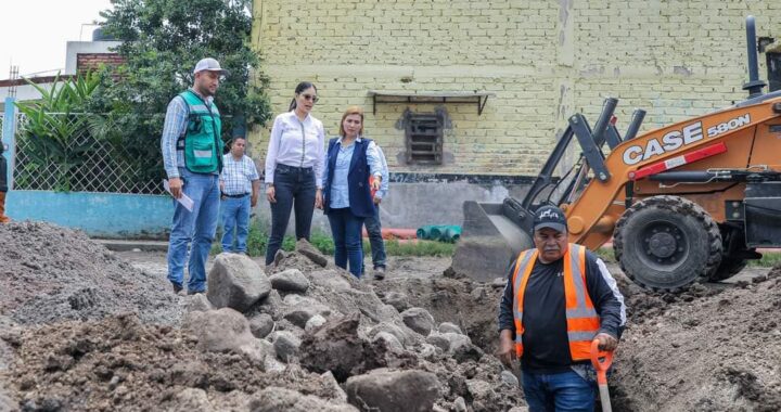
<instances>
[{"instance_id":1,"label":"flat dirt-covered rock cut off by the bottom edge","mask_svg":"<svg viewBox=\"0 0 781 412\"><path fill-rule=\"evenodd\" d=\"M358 411L354 407L329 401L311 395L280 388L268 387L255 394L253 400L249 401L247 409L252 412L353 412Z\"/></svg>"}]
</instances>

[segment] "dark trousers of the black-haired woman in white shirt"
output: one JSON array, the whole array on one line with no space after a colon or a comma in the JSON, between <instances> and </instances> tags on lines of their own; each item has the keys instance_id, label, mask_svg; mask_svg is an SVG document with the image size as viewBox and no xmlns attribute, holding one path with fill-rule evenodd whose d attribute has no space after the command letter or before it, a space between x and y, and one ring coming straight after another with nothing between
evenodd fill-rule
<instances>
[{"instance_id":1,"label":"dark trousers of the black-haired woman in white shirt","mask_svg":"<svg viewBox=\"0 0 781 412\"><path fill-rule=\"evenodd\" d=\"M311 167L277 165L274 169L277 203L271 204L271 235L266 247L266 265L273 262L277 250L282 246L293 208L296 217L296 240L309 240L316 192L315 170Z\"/></svg>"}]
</instances>

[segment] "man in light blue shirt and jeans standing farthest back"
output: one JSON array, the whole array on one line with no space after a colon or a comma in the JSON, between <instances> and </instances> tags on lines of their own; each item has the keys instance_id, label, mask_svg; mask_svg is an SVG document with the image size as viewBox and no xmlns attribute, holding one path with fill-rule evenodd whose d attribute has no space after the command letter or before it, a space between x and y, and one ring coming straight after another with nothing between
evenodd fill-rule
<instances>
[{"instance_id":1,"label":"man in light blue shirt and jeans standing farthest back","mask_svg":"<svg viewBox=\"0 0 781 412\"><path fill-rule=\"evenodd\" d=\"M244 154L246 140L234 138L230 153L222 156L220 192L222 193L222 252L246 255L249 234L249 210L257 205L260 177L255 163ZM235 247L233 231L235 230Z\"/></svg>"}]
</instances>

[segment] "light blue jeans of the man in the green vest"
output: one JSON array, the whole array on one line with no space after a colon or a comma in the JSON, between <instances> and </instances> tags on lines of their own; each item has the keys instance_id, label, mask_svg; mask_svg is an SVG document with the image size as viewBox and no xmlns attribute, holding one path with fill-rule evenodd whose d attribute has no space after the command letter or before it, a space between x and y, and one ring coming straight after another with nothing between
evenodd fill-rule
<instances>
[{"instance_id":1,"label":"light blue jeans of the man in the green vest","mask_svg":"<svg viewBox=\"0 0 781 412\"><path fill-rule=\"evenodd\" d=\"M181 287L184 280L184 261L190 245L188 291L206 289L206 259L217 232L219 213L219 183L217 175L193 173L179 168L182 192L193 199L189 211L174 199L174 223L168 244L168 280Z\"/></svg>"}]
</instances>

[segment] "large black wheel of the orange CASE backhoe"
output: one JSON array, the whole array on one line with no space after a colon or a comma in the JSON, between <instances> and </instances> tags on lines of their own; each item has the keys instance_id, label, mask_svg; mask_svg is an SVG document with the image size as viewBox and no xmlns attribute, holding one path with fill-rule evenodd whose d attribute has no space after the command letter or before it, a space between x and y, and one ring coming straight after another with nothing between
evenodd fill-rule
<instances>
[{"instance_id":1,"label":"large black wheel of the orange CASE backhoe","mask_svg":"<svg viewBox=\"0 0 781 412\"><path fill-rule=\"evenodd\" d=\"M721 262L721 233L695 203L678 196L643 199L618 219L613 249L622 270L642 287L680 292L707 280Z\"/></svg>"}]
</instances>

